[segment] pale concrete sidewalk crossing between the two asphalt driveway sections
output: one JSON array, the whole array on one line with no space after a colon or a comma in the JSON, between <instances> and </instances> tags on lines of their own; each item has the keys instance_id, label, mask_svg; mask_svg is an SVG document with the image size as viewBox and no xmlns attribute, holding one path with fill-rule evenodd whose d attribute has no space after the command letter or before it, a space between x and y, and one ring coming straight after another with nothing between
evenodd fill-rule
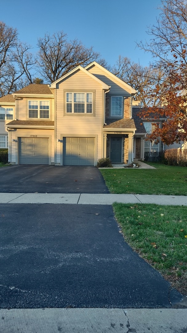
<instances>
[{"instance_id":1,"label":"pale concrete sidewalk crossing between the two asphalt driveway sections","mask_svg":"<svg viewBox=\"0 0 187 333\"><path fill-rule=\"evenodd\" d=\"M187 206L187 196L100 193L0 193L0 203L68 203L111 205L114 202L156 203L160 205Z\"/></svg>"}]
</instances>

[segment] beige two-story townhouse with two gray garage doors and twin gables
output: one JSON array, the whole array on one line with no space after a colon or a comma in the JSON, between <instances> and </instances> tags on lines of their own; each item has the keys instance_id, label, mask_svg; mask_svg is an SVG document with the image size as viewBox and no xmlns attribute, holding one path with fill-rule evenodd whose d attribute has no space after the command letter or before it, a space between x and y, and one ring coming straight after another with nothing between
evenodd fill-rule
<instances>
[{"instance_id":1,"label":"beige two-story townhouse with two gray garage doors and twin gables","mask_svg":"<svg viewBox=\"0 0 187 333\"><path fill-rule=\"evenodd\" d=\"M6 108L9 104L3 102L11 98L14 112L12 121L5 118L8 132L2 131L9 136L9 162L95 166L109 157L112 163L131 163L135 95L128 84L93 62L50 85L31 84L0 98Z\"/></svg>"}]
</instances>

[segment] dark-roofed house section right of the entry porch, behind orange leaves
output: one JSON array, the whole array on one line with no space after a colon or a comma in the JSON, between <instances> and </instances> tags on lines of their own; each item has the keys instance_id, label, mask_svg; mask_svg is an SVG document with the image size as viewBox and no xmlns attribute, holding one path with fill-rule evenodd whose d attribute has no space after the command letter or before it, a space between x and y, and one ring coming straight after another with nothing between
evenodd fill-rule
<instances>
[{"instance_id":1,"label":"dark-roofed house section right of the entry porch, behind orange leaves","mask_svg":"<svg viewBox=\"0 0 187 333\"><path fill-rule=\"evenodd\" d=\"M163 142L160 141L158 144L155 141L145 140L147 134L151 134L154 130L154 125L152 123L159 123L159 127L161 128L162 122L165 121L165 118L160 118L159 116L157 119L149 118L144 119L138 116L140 108L138 102L134 101L133 103L133 119L136 125L136 132L134 136L134 158L143 160L146 156L158 156L159 152L164 150Z\"/></svg>"}]
</instances>

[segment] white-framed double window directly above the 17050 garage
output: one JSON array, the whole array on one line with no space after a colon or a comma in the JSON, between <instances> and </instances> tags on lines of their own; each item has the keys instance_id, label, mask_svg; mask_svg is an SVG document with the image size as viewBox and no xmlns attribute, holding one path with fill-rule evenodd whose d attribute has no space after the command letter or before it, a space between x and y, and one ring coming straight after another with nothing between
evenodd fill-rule
<instances>
[{"instance_id":1,"label":"white-framed double window directly above the 17050 garage","mask_svg":"<svg viewBox=\"0 0 187 333\"><path fill-rule=\"evenodd\" d=\"M29 101L29 118L49 119L49 101Z\"/></svg>"}]
</instances>

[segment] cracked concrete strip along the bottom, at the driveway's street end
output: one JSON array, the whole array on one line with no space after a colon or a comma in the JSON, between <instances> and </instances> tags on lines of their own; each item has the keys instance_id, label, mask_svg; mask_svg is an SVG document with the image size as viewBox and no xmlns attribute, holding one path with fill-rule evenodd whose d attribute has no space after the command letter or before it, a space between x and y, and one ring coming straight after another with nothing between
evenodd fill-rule
<instances>
[{"instance_id":1,"label":"cracked concrete strip along the bottom, at the driveway's street end","mask_svg":"<svg viewBox=\"0 0 187 333\"><path fill-rule=\"evenodd\" d=\"M185 333L187 309L1 309L3 333Z\"/></svg>"}]
</instances>

